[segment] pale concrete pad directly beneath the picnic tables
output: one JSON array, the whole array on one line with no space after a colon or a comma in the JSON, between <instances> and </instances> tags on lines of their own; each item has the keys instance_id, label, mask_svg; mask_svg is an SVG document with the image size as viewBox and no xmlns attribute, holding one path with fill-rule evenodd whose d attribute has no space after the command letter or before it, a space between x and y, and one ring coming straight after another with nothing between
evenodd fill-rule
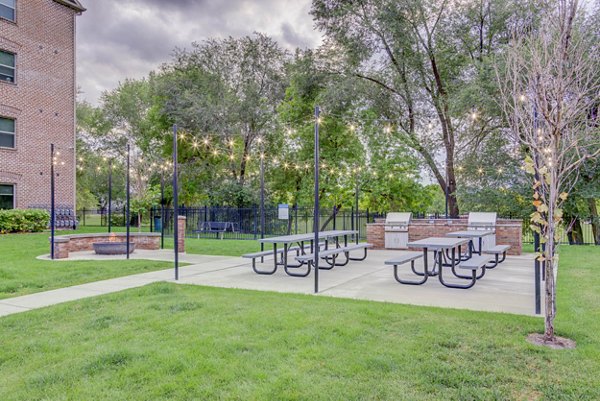
<instances>
[{"instance_id":1,"label":"pale concrete pad directly beneath the picnic tables","mask_svg":"<svg viewBox=\"0 0 600 401\"><path fill-rule=\"evenodd\" d=\"M478 280L473 288L462 290L444 287L437 277L430 277L427 283L420 286L398 283L393 277L393 267L386 266L383 262L402 252L369 251L365 261L353 261L347 266L321 270L319 293L333 297L413 305L534 314L533 255L509 256L500 266L488 270L485 277ZM415 265L417 271L423 271L422 259ZM265 264L264 267L269 268L270 264ZM447 271L445 278L452 281L449 269ZM406 278L416 278L410 271L409 264L401 267L400 272L401 276ZM278 269L270 276L258 275L246 262L227 270L190 274L179 283L312 294L313 274L304 278L290 277L283 269Z\"/></svg>"}]
</instances>

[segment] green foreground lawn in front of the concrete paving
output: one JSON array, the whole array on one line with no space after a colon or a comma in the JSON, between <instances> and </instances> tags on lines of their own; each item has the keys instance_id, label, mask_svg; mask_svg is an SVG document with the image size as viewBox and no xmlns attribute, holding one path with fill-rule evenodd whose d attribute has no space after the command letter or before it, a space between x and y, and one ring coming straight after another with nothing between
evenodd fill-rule
<instances>
[{"instance_id":1,"label":"green foreground lawn in front of the concrete paving","mask_svg":"<svg viewBox=\"0 0 600 401\"><path fill-rule=\"evenodd\" d=\"M575 350L533 317L160 283L1 318L0 399L597 400L599 258L561 249Z\"/></svg>"}]
</instances>

